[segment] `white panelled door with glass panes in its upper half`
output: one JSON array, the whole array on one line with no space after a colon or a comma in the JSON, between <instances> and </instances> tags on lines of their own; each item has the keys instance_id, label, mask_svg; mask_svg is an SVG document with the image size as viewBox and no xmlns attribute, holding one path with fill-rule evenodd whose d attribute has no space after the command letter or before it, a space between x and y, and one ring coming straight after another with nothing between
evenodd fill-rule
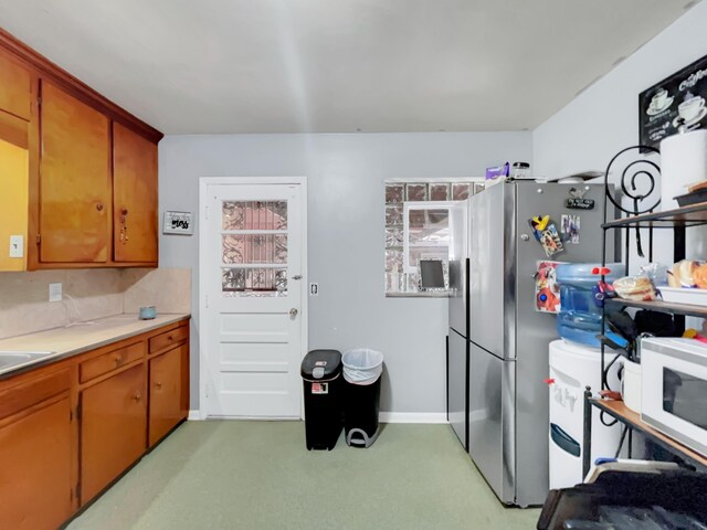
<instances>
[{"instance_id":1,"label":"white panelled door with glass panes in its upper half","mask_svg":"<svg viewBox=\"0 0 707 530\"><path fill-rule=\"evenodd\" d=\"M304 186L209 180L199 272L205 415L298 418Z\"/></svg>"}]
</instances>

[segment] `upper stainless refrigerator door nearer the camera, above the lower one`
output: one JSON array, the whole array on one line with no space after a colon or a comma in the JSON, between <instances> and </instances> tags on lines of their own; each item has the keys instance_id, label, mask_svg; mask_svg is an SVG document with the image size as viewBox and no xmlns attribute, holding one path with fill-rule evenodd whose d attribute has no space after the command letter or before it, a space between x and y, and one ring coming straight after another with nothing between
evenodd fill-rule
<instances>
[{"instance_id":1,"label":"upper stainless refrigerator door nearer the camera, above the lower one","mask_svg":"<svg viewBox=\"0 0 707 530\"><path fill-rule=\"evenodd\" d=\"M506 298L513 277L506 264L515 225L514 190L496 184L469 201L469 339L497 357L506 358Z\"/></svg>"}]
</instances>

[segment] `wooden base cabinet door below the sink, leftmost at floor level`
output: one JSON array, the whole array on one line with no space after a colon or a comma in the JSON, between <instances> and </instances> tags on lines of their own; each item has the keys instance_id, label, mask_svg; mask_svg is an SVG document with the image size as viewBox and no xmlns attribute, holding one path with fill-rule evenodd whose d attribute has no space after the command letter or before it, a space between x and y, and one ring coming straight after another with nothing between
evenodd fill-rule
<instances>
[{"instance_id":1,"label":"wooden base cabinet door below the sink, leftmost at floor level","mask_svg":"<svg viewBox=\"0 0 707 530\"><path fill-rule=\"evenodd\" d=\"M0 423L0 528L57 528L73 511L68 396Z\"/></svg>"}]
</instances>

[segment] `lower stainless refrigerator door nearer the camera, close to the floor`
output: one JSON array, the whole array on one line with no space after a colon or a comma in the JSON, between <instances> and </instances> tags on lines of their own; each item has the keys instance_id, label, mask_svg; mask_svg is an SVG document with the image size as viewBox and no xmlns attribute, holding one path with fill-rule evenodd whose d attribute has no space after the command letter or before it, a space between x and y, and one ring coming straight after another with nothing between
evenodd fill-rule
<instances>
[{"instance_id":1,"label":"lower stainless refrigerator door nearer the camera, close to the floor","mask_svg":"<svg viewBox=\"0 0 707 530\"><path fill-rule=\"evenodd\" d=\"M469 359L468 452L502 502L514 504L515 362L473 342Z\"/></svg>"}]
</instances>

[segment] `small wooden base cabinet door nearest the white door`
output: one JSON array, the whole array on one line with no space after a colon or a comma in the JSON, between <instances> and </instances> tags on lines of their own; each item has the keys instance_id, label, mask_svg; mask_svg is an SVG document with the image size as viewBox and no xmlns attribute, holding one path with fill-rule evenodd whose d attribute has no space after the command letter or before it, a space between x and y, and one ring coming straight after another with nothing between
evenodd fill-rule
<instances>
[{"instance_id":1,"label":"small wooden base cabinet door nearest the white door","mask_svg":"<svg viewBox=\"0 0 707 530\"><path fill-rule=\"evenodd\" d=\"M186 351L187 346L180 346L150 360L150 447L184 417L182 363Z\"/></svg>"}]
</instances>

